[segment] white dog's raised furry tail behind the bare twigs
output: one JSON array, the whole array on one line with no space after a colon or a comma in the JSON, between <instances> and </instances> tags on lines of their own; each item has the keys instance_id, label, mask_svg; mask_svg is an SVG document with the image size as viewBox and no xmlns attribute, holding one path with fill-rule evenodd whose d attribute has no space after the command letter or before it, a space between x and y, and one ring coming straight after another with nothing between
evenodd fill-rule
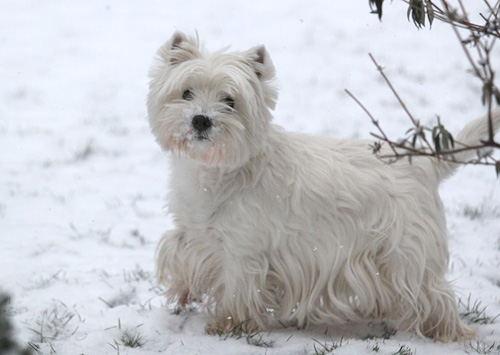
<instances>
[{"instance_id":1,"label":"white dog's raised furry tail behind the bare twigs","mask_svg":"<svg viewBox=\"0 0 500 355\"><path fill-rule=\"evenodd\" d=\"M497 108L491 112L494 133L500 130L500 109ZM481 140L486 139L489 135L488 115L477 118L469 122L458 134L454 137L454 149L457 153L450 156L450 160L444 159L434 160L437 173L440 180L444 180L460 167L458 162L467 162L474 157L477 157L481 152L477 149L466 149L468 147L476 147L481 145Z\"/></svg>"}]
</instances>

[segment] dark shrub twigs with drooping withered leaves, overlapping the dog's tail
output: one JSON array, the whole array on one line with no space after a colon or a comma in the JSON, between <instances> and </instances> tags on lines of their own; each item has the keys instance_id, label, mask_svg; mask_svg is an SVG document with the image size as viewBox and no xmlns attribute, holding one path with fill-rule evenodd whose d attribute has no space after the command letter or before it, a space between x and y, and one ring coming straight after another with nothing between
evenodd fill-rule
<instances>
[{"instance_id":1,"label":"dark shrub twigs with drooping withered leaves, overlapping the dog's tail","mask_svg":"<svg viewBox=\"0 0 500 355\"><path fill-rule=\"evenodd\" d=\"M409 5L408 14L411 12L418 12L412 13L413 22L417 27L420 28L425 26L425 17L429 19L429 22L432 22L433 19L438 19L451 25L467 61L472 68L473 74L482 83L482 101L488 112L488 137L476 146L465 146L460 142L454 141L451 134L439 122L439 118L438 124L433 128L421 125L408 110L401 96L384 73L382 66L380 66L373 55L370 54L370 59L375 64L380 75L385 80L387 86L390 88L413 124L413 128L407 131L406 138L397 141L391 140L380 126L379 121L373 117L354 95L346 90L349 96L351 96L368 114L372 123L378 130L378 133L371 133L373 137L379 140L379 142L376 143L374 152L377 153L380 158L390 159L389 162L394 162L401 158L409 158L411 161L411 158L414 156L425 156L456 164L493 165L496 167L497 174L500 175L500 161L494 159L492 156L492 152L495 149L500 149L500 143L495 141L495 131L492 119L493 101L496 100L500 105L500 90L495 86L495 72L491 62L493 58L492 50L496 40L500 38L500 0L497 0L495 5L491 5L489 0L483 0L489 12L487 16L480 14L484 24L470 22L463 0L458 0L458 10L451 7L448 0L441 0L441 6L434 3L434 0L425 0L425 3L416 0L417 4L412 2L413 0L403 1ZM381 15L382 2L383 0L378 2L380 6L379 15ZM460 30L466 30L468 32L468 37L464 39ZM472 50L472 48L474 50ZM432 133L434 146L427 140L426 132ZM384 143L391 148L392 154L381 154L381 147ZM457 160L455 156L464 151L475 151L476 158L469 161Z\"/></svg>"}]
</instances>

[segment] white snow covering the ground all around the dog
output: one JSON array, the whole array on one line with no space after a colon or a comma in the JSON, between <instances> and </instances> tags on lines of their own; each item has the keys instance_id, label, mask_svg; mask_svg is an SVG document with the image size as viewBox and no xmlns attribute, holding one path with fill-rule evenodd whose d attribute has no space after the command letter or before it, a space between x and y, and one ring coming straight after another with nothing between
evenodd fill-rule
<instances>
[{"instance_id":1,"label":"white snow covering the ground all around the dog","mask_svg":"<svg viewBox=\"0 0 500 355\"><path fill-rule=\"evenodd\" d=\"M471 13L483 5L467 3ZM493 344L489 353L500 353L500 317L475 323L470 343L442 344L404 332L365 339L376 329L355 325L209 336L203 312L173 314L154 280L156 243L172 222L168 162L149 132L145 96L151 59L177 29L197 30L212 49L265 44L280 87L275 121L288 130L369 138L375 129L349 89L402 136L409 121L368 53L424 123L437 114L454 132L485 111L451 28L416 30L401 1L386 2L379 22L367 1L2 0L0 280L19 343L85 355L314 354L334 343L335 354L484 353ZM500 69L498 48L493 58ZM492 319L498 179L492 168L466 167L441 195L449 278L463 303ZM141 346L125 346L127 334Z\"/></svg>"}]
</instances>

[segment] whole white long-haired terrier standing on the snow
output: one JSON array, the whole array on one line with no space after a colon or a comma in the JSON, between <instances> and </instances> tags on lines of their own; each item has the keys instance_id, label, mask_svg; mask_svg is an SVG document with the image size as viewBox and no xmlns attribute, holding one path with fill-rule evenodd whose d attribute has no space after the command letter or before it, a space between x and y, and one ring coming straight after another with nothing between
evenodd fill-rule
<instances>
[{"instance_id":1,"label":"whole white long-haired terrier standing on the snow","mask_svg":"<svg viewBox=\"0 0 500 355\"><path fill-rule=\"evenodd\" d=\"M368 141L285 132L270 122L274 74L263 46L210 53L177 32L158 50L148 112L173 153L176 229L157 251L169 301L203 300L211 332L387 319L442 341L472 337L445 279L438 186L456 165L388 165ZM456 140L486 133L479 119Z\"/></svg>"}]
</instances>

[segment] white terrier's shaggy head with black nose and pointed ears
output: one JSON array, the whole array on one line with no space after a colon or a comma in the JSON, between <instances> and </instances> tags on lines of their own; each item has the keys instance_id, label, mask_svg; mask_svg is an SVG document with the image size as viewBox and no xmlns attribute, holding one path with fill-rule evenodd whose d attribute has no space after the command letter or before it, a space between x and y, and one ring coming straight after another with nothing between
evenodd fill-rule
<instances>
[{"instance_id":1,"label":"white terrier's shaggy head with black nose and pointed ears","mask_svg":"<svg viewBox=\"0 0 500 355\"><path fill-rule=\"evenodd\" d=\"M148 114L158 143L208 166L237 167L257 155L278 96L264 46L209 53L176 32L150 71Z\"/></svg>"}]
</instances>

